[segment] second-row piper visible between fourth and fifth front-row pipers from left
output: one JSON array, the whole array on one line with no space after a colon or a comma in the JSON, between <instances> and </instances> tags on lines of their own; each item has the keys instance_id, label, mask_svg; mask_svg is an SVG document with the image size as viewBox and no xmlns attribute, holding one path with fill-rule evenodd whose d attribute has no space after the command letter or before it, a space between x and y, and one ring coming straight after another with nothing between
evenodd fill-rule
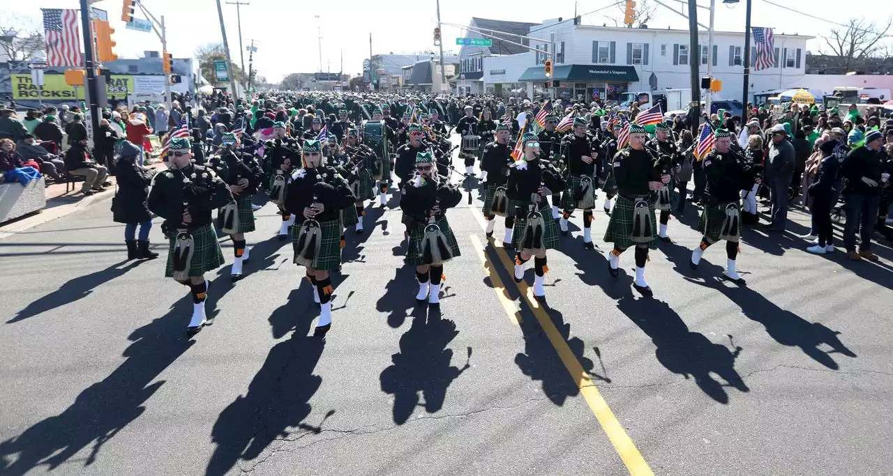
<instances>
[{"instance_id":1,"label":"second-row piper visible between fourth and fifth front-row pipers from left","mask_svg":"<svg viewBox=\"0 0 893 476\"><path fill-rule=\"evenodd\" d=\"M562 195L561 233L567 234L568 218L574 209L583 209L583 246L595 248L592 242L592 209L596 206L598 188L598 144L588 134L586 118L573 119L573 132L562 139L562 161L567 165L567 185Z\"/></svg>"}]
</instances>

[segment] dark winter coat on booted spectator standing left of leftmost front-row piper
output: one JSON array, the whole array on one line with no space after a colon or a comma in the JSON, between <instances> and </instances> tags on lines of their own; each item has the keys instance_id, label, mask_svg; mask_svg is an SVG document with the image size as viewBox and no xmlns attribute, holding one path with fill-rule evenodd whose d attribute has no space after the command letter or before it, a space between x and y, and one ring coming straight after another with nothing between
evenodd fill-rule
<instances>
[{"instance_id":1,"label":"dark winter coat on booted spectator standing left of leftmost front-row piper","mask_svg":"<svg viewBox=\"0 0 893 476\"><path fill-rule=\"evenodd\" d=\"M152 218L146 203L154 170L138 165L135 157L121 157L114 165L118 192L112 212L118 223L141 223Z\"/></svg>"}]
</instances>

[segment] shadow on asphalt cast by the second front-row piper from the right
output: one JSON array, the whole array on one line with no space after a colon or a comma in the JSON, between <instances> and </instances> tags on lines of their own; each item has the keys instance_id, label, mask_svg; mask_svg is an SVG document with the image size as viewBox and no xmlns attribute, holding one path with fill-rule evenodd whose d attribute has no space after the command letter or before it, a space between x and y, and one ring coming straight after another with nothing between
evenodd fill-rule
<instances>
[{"instance_id":1,"label":"shadow on asphalt cast by the second front-row piper from the right","mask_svg":"<svg viewBox=\"0 0 893 476\"><path fill-rule=\"evenodd\" d=\"M686 379L693 377L710 398L726 404L729 395L723 387L734 387L742 392L750 390L735 370L740 347L730 351L700 332L689 331L679 314L660 300L637 300L630 294L617 301L617 308L651 338L656 346L655 357L661 365ZM726 383L717 382L711 373L719 375Z\"/></svg>"}]
</instances>

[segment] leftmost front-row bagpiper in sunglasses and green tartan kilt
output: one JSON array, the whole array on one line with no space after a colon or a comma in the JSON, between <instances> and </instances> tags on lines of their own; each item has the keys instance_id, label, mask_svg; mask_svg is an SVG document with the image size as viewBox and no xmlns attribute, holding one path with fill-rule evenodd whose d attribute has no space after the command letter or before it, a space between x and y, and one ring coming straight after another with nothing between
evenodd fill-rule
<instances>
[{"instance_id":1,"label":"leftmost front-row bagpiper in sunglasses and green tartan kilt","mask_svg":"<svg viewBox=\"0 0 893 476\"><path fill-rule=\"evenodd\" d=\"M170 240L164 276L189 287L192 318L187 332L198 332L207 322L204 300L208 283L204 274L224 263L214 233L211 211L232 203L230 189L211 168L195 165L188 138L171 139L169 168L155 174L148 197L149 209L164 218L162 230Z\"/></svg>"}]
</instances>

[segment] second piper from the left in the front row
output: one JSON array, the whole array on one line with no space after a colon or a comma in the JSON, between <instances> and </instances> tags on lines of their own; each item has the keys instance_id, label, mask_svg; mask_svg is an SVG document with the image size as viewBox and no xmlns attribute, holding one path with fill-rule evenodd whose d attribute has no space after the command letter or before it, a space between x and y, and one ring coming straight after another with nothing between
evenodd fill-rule
<instances>
[{"instance_id":1,"label":"second piper from the left in the front row","mask_svg":"<svg viewBox=\"0 0 893 476\"><path fill-rule=\"evenodd\" d=\"M306 267L307 280L313 284L313 301L320 305L316 334L331 327L331 294L334 291L330 271L341 265L341 209L354 206L354 194L335 168L322 160L320 141L304 144L302 168L288 183L285 208L303 218L300 226L292 226L295 263Z\"/></svg>"}]
</instances>

